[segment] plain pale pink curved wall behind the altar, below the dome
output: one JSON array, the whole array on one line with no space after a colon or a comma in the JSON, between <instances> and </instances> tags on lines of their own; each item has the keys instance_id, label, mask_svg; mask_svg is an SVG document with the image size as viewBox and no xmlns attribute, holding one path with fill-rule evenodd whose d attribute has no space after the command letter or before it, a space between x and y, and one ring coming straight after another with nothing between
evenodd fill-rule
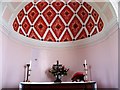
<instances>
[{"instance_id":1,"label":"plain pale pink curved wall behind the altar, below the dome","mask_svg":"<svg viewBox=\"0 0 120 90\"><path fill-rule=\"evenodd\" d=\"M118 32L106 40L84 48L33 48L2 35L3 87L18 87L23 81L24 65L32 60L31 81L54 81L47 72L59 60L70 68L63 81L71 81L72 74L83 71L87 60L91 66L92 80L101 88L118 87ZM37 59L37 61L35 61Z\"/></svg>"}]
</instances>

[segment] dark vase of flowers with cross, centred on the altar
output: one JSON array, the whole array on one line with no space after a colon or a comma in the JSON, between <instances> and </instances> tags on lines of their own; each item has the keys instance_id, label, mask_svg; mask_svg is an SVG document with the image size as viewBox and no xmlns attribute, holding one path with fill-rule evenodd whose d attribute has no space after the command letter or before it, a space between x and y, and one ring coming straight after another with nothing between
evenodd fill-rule
<instances>
[{"instance_id":1,"label":"dark vase of flowers with cross, centred on the altar","mask_svg":"<svg viewBox=\"0 0 120 90\"><path fill-rule=\"evenodd\" d=\"M57 60L57 64L53 64L49 72L56 77L56 80L54 82L62 82L61 77L67 75L68 70L68 68L62 64L59 64L59 61Z\"/></svg>"}]
</instances>

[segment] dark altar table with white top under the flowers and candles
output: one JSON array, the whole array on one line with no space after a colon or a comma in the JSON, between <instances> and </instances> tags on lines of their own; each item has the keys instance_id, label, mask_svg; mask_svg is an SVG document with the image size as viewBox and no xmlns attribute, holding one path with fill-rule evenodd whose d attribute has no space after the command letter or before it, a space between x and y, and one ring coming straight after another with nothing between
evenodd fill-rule
<instances>
[{"instance_id":1,"label":"dark altar table with white top under the flowers and candles","mask_svg":"<svg viewBox=\"0 0 120 90\"><path fill-rule=\"evenodd\" d=\"M20 82L19 90L97 90L95 81L88 82Z\"/></svg>"}]
</instances>

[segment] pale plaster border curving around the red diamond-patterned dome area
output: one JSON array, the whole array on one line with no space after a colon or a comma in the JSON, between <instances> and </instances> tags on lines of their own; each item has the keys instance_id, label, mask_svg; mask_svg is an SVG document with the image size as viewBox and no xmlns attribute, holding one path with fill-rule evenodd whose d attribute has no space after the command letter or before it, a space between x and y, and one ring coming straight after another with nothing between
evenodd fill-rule
<instances>
[{"instance_id":1,"label":"pale plaster border curving around the red diamond-patterned dome area","mask_svg":"<svg viewBox=\"0 0 120 90\"><path fill-rule=\"evenodd\" d=\"M58 42L52 43L52 42L43 42L43 41L38 42L36 40L24 38L24 36L16 34L12 28L12 23L14 18L17 16L21 8L23 8L29 2L1 2L1 3L2 3L2 10L1 10L2 20L0 25L6 28L6 30L3 32L6 32L6 34L9 35L11 38L15 38L29 45L43 46L43 47L85 46L96 43L101 39L105 38L106 35L109 34L109 32L112 32L111 28L113 28L117 23L117 14L115 13L116 9L113 7L111 2L88 2L92 7L94 7L97 10L97 12L99 12L100 16L103 18L105 23L103 32L93 37L84 40L74 41L74 42L64 42L64 43L58 43ZM106 11L108 10L110 14L107 15ZM5 15L7 15L7 17Z\"/></svg>"}]
</instances>

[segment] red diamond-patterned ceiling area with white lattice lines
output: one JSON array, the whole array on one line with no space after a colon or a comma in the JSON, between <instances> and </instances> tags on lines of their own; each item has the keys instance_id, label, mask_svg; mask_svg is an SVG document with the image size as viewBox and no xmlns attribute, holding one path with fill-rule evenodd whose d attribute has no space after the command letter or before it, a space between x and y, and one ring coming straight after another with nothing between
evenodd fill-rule
<instances>
[{"instance_id":1,"label":"red diamond-patterned ceiling area with white lattice lines","mask_svg":"<svg viewBox=\"0 0 120 90\"><path fill-rule=\"evenodd\" d=\"M13 22L16 32L40 41L66 42L89 38L103 30L99 13L87 2L28 3Z\"/></svg>"}]
</instances>

